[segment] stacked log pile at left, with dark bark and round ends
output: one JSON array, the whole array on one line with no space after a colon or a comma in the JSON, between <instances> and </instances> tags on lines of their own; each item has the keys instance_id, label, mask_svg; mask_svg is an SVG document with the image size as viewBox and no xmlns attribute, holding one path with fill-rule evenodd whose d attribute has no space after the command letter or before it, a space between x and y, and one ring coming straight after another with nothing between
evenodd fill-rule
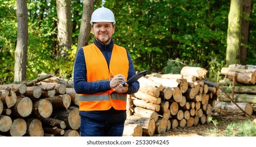
<instances>
[{"instance_id":1,"label":"stacked log pile at left, with dark bark and round ends","mask_svg":"<svg viewBox=\"0 0 256 147\"><path fill-rule=\"evenodd\" d=\"M79 136L77 94L56 79L43 74L30 82L0 85L0 135Z\"/></svg>"}]
</instances>

